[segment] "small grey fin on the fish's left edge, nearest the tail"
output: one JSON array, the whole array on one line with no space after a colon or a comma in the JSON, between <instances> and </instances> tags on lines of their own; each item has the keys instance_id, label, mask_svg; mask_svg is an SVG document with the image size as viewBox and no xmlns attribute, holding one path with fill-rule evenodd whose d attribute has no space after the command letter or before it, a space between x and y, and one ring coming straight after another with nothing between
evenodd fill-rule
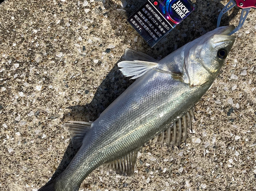
<instances>
[{"instance_id":1,"label":"small grey fin on the fish's left edge, nearest the tail","mask_svg":"<svg viewBox=\"0 0 256 191\"><path fill-rule=\"evenodd\" d=\"M69 121L67 124L63 124L62 127L69 131L73 146L79 148L84 136L91 129L91 125L91 122Z\"/></svg>"}]
</instances>

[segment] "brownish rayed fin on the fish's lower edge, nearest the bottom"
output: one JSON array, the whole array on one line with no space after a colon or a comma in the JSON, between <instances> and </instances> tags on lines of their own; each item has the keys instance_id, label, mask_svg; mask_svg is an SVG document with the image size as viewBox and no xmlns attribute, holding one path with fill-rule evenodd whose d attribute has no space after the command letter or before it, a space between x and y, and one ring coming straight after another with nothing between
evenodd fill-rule
<instances>
[{"instance_id":1,"label":"brownish rayed fin on the fish's lower edge, nearest the bottom","mask_svg":"<svg viewBox=\"0 0 256 191\"><path fill-rule=\"evenodd\" d=\"M117 174L122 176L132 176L135 170L138 150L139 149L112 162L106 162L102 164L102 167L106 170L115 171Z\"/></svg>"}]
</instances>

